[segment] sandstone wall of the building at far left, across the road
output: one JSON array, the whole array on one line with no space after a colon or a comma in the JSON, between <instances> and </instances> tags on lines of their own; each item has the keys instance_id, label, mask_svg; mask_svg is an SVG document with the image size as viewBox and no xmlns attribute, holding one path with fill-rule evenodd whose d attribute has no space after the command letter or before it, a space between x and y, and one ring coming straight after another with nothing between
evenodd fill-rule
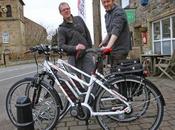
<instances>
[{"instance_id":1,"label":"sandstone wall of the building at far left, across the road","mask_svg":"<svg viewBox=\"0 0 175 130\"><path fill-rule=\"evenodd\" d=\"M22 0L0 1L0 60L7 53L11 58L22 58L21 55L28 47L47 40L44 27L24 17L24 2ZM11 6L11 16L2 8ZM3 34L9 34L8 43L3 43ZM35 33L36 32L36 33ZM38 37L41 35L42 37Z\"/></svg>"}]
</instances>

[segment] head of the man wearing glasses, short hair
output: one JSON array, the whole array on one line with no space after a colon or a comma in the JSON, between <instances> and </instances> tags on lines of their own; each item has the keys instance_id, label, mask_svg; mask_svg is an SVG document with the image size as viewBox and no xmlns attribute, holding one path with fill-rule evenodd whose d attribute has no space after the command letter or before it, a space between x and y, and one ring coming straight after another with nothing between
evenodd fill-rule
<instances>
[{"instance_id":1,"label":"head of the man wearing glasses, short hair","mask_svg":"<svg viewBox=\"0 0 175 130\"><path fill-rule=\"evenodd\" d=\"M71 11L70 11L70 6L66 2L60 3L58 6L58 9L60 11L60 14L63 16L64 19L67 19L71 17Z\"/></svg>"}]
</instances>

